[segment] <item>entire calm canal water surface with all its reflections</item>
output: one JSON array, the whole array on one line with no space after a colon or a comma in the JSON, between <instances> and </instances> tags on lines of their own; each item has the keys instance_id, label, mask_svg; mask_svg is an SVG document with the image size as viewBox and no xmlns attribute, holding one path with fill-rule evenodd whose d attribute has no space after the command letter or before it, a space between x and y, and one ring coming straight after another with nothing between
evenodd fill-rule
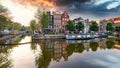
<instances>
[{"instance_id":1,"label":"entire calm canal water surface with all its reflections","mask_svg":"<svg viewBox=\"0 0 120 68\"><path fill-rule=\"evenodd\" d=\"M20 44L24 43L24 44ZM0 45L0 68L120 68L120 40L31 40Z\"/></svg>"}]
</instances>

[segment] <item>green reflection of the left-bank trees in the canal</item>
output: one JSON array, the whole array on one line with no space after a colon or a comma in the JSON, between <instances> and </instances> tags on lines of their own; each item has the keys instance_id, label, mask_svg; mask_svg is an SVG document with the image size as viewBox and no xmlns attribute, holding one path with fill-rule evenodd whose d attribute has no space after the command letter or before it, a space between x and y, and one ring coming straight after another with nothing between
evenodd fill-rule
<instances>
[{"instance_id":1,"label":"green reflection of the left-bank trees in the canal","mask_svg":"<svg viewBox=\"0 0 120 68\"><path fill-rule=\"evenodd\" d=\"M18 44L24 37L25 36L21 36L20 38L14 37L13 39L9 39L6 42L10 41L12 44ZM5 43L0 45L0 68L13 68L11 53L16 45Z\"/></svg>"}]
</instances>

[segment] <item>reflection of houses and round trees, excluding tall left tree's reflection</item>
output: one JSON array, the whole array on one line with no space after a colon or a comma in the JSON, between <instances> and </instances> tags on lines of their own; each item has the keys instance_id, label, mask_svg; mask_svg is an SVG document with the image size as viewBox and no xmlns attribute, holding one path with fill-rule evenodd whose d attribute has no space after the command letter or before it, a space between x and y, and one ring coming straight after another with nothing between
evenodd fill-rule
<instances>
[{"instance_id":1,"label":"reflection of houses and round trees, excluding tall left tree's reflection","mask_svg":"<svg viewBox=\"0 0 120 68\"><path fill-rule=\"evenodd\" d=\"M71 41L71 40L70 40ZM73 53L82 53L84 51L97 51L100 49L112 49L114 48L114 43L109 41L109 39L92 39L92 40L72 40L74 43L68 43L65 40L45 40L42 41L42 50L47 50L50 54L50 59L59 62L62 58L65 61L68 60L68 56ZM108 41L108 42L107 42ZM107 43L106 43L107 42Z\"/></svg>"}]
</instances>

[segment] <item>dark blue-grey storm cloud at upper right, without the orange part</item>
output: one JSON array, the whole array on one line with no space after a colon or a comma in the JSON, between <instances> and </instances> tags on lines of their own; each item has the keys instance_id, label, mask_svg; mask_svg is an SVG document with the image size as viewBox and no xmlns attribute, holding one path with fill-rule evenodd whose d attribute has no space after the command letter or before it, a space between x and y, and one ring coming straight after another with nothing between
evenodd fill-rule
<instances>
[{"instance_id":1,"label":"dark blue-grey storm cloud at upper right, without the orange part","mask_svg":"<svg viewBox=\"0 0 120 68\"><path fill-rule=\"evenodd\" d=\"M120 0L56 0L56 5L71 14L104 19L119 16Z\"/></svg>"}]
</instances>

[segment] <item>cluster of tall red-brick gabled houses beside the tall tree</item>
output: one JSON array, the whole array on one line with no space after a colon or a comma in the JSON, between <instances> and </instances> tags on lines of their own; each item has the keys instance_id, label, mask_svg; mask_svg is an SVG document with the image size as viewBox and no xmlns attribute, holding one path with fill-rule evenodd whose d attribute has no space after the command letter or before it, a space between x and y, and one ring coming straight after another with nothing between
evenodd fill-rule
<instances>
[{"instance_id":1,"label":"cluster of tall red-brick gabled houses beside the tall tree","mask_svg":"<svg viewBox=\"0 0 120 68\"><path fill-rule=\"evenodd\" d=\"M69 14L64 11L61 12L48 12L50 23L49 26L46 28L47 32L55 32L55 33L62 33L65 31L65 25L67 21L70 19Z\"/></svg>"}]
</instances>

